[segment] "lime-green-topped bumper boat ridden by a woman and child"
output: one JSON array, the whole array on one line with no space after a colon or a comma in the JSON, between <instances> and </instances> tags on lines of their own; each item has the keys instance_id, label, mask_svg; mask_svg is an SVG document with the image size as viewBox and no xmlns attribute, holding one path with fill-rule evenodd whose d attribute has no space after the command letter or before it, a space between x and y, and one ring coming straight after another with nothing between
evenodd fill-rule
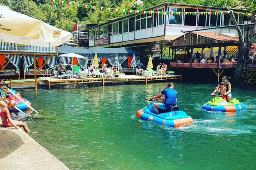
<instances>
[{"instance_id":1,"label":"lime-green-topped bumper boat ridden by a woman and child","mask_svg":"<svg viewBox=\"0 0 256 170\"><path fill-rule=\"evenodd\" d=\"M244 110L245 105L235 98L231 102L227 102L222 97L216 96L211 101L203 104L202 109L208 111L236 112Z\"/></svg>"}]
</instances>

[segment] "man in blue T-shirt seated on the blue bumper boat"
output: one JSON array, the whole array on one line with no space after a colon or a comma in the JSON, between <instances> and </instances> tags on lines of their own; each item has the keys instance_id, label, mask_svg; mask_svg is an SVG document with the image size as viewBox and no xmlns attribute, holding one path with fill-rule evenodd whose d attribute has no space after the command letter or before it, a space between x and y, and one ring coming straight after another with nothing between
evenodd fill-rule
<instances>
[{"instance_id":1,"label":"man in blue T-shirt seated on the blue bumper boat","mask_svg":"<svg viewBox=\"0 0 256 170\"><path fill-rule=\"evenodd\" d=\"M167 89L164 89L161 93L155 95L154 97L150 98L149 101L156 100L165 96L164 103L154 103L154 111L155 114L159 114L159 110L168 110L173 106L177 106L177 91L174 89L174 85L172 82L168 83Z\"/></svg>"}]
</instances>

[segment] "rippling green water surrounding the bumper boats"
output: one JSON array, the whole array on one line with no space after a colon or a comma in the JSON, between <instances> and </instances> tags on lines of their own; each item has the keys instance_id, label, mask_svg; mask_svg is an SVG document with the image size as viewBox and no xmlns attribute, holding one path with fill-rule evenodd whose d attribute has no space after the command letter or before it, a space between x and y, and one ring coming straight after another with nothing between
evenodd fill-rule
<instances>
[{"instance_id":1,"label":"rippling green water surrounding the bumper boats","mask_svg":"<svg viewBox=\"0 0 256 170\"><path fill-rule=\"evenodd\" d=\"M178 106L194 124L177 129L138 120L136 111L167 83L91 85L20 91L36 117L31 135L72 170L255 170L256 90L232 86L246 105L236 115L201 110L213 84L175 83ZM33 115L33 114L32 114Z\"/></svg>"}]
</instances>

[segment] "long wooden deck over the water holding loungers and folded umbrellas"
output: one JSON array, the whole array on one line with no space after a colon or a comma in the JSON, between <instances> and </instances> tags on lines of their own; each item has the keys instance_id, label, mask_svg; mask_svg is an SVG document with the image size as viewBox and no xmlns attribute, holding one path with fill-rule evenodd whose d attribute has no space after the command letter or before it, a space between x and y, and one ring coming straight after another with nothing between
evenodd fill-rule
<instances>
[{"instance_id":1,"label":"long wooden deck over the water holding loungers and folded umbrellas","mask_svg":"<svg viewBox=\"0 0 256 170\"><path fill-rule=\"evenodd\" d=\"M146 84L149 81L163 81L163 80L173 80L180 79L182 81L182 75L168 75L168 76L150 76L143 77L137 75L125 75L122 77L114 77L114 78L70 78L70 79L59 79L59 78L50 78L50 77L39 77L40 79L44 79L46 84L49 85L49 89L53 85L67 85L67 84L84 84L84 83L102 83L104 86L105 83L110 82L141 82L144 81Z\"/></svg>"}]
</instances>

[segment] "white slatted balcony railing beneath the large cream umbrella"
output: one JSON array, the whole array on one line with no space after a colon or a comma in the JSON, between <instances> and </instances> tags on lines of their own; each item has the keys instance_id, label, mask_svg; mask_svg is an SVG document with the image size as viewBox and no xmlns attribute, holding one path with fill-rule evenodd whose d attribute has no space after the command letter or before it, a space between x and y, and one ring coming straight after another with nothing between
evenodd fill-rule
<instances>
[{"instance_id":1,"label":"white slatted balcony railing beneath the large cream umbrella","mask_svg":"<svg viewBox=\"0 0 256 170\"><path fill-rule=\"evenodd\" d=\"M54 47L40 47L33 45L22 45L0 41L1 52L37 52L37 53L56 53Z\"/></svg>"}]
</instances>

